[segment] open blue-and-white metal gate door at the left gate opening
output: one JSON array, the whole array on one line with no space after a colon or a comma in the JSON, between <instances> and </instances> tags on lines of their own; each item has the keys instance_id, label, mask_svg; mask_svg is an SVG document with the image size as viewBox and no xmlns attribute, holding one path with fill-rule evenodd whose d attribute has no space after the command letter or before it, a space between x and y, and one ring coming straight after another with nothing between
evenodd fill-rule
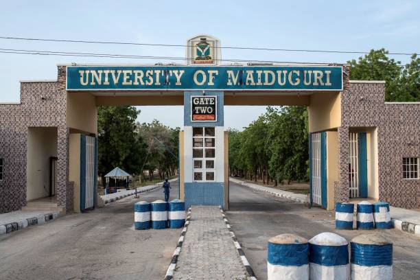
<instances>
[{"instance_id":1,"label":"open blue-and-white metal gate door at the left gate opening","mask_svg":"<svg viewBox=\"0 0 420 280\"><path fill-rule=\"evenodd\" d=\"M81 135L80 139L80 210L93 208L96 195L95 137Z\"/></svg>"}]
</instances>

